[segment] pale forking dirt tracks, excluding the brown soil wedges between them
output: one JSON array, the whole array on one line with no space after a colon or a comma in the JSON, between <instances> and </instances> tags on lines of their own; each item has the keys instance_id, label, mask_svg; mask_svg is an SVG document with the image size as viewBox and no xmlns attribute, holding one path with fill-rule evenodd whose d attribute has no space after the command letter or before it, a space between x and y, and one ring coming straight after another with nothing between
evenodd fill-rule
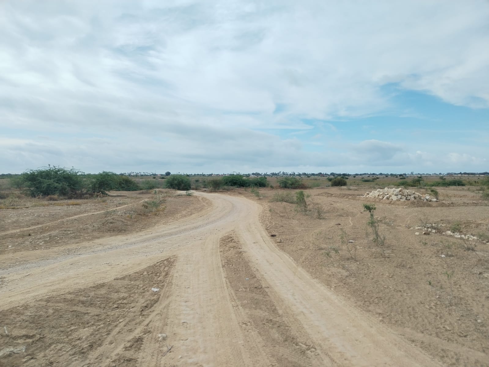
<instances>
[{"instance_id":1,"label":"pale forking dirt tracks, excluding the brown soil wedges between them","mask_svg":"<svg viewBox=\"0 0 489 367\"><path fill-rule=\"evenodd\" d=\"M312 366L438 366L438 362L370 320L315 281L280 252L258 220L261 206L240 197L199 193L212 202L201 213L144 233L98 241L97 248L0 270L0 312L26 302L128 275L172 255L172 283L145 324L137 366L277 366L222 269L220 239L234 231L250 267L269 285L271 300L288 327L307 333ZM3 284L3 283L2 283ZM1 314L0 314L1 315ZM163 330L164 329L164 330ZM174 345L165 357L158 333ZM113 345L111 349L120 347ZM85 363L109 366L107 345Z\"/></svg>"}]
</instances>

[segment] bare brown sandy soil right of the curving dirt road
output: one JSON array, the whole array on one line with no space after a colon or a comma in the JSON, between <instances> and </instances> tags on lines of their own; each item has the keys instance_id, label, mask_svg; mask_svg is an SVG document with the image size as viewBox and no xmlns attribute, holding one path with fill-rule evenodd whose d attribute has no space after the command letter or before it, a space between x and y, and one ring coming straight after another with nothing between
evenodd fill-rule
<instances>
[{"instance_id":1,"label":"bare brown sandy soil right of the curving dirt road","mask_svg":"<svg viewBox=\"0 0 489 367\"><path fill-rule=\"evenodd\" d=\"M489 240L489 207L473 189L440 189L445 200L432 204L361 198L362 189L307 192L307 214L298 213L292 204L260 200L265 206L262 223L280 238L281 251L392 333L444 364L489 366L489 245L483 241ZM385 256L366 233L365 202L377 206ZM422 230L414 228L426 223L437 232L416 235ZM442 234L454 225L481 240ZM467 250L472 247L474 251ZM453 276L447 279L446 273Z\"/></svg>"}]
</instances>

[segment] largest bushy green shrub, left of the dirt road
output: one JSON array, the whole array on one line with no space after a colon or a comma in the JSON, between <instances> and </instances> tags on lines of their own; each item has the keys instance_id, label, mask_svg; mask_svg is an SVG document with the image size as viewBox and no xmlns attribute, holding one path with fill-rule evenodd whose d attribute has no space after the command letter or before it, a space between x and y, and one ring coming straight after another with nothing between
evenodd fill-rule
<instances>
[{"instance_id":1,"label":"largest bushy green shrub, left of the dirt road","mask_svg":"<svg viewBox=\"0 0 489 367\"><path fill-rule=\"evenodd\" d=\"M81 174L75 168L43 167L22 173L22 181L32 197L74 196L83 190Z\"/></svg>"}]
</instances>

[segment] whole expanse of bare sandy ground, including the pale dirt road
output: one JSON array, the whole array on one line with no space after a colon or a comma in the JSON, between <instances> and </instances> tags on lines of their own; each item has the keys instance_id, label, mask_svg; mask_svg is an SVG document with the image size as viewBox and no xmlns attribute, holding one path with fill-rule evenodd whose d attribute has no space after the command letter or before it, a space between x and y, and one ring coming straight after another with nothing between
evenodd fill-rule
<instances>
[{"instance_id":1,"label":"whole expanse of bare sandy ground, including the pale dirt road","mask_svg":"<svg viewBox=\"0 0 489 367\"><path fill-rule=\"evenodd\" d=\"M267 189L172 196L132 218L150 193L42 207L41 221L0 210L25 217L0 233L0 366L488 366L488 245L410 229L487 233L488 207L463 191L379 203L383 255L351 191L310 190L308 213Z\"/></svg>"}]
</instances>

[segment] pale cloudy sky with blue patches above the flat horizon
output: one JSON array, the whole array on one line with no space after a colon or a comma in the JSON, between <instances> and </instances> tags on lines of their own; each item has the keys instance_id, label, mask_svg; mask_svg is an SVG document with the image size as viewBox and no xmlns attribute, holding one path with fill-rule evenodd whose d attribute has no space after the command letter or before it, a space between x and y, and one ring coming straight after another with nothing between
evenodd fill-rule
<instances>
[{"instance_id":1,"label":"pale cloudy sky with blue patches above the flat horizon","mask_svg":"<svg viewBox=\"0 0 489 367\"><path fill-rule=\"evenodd\" d=\"M489 2L0 2L0 173L489 170Z\"/></svg>"}]
</instances>

